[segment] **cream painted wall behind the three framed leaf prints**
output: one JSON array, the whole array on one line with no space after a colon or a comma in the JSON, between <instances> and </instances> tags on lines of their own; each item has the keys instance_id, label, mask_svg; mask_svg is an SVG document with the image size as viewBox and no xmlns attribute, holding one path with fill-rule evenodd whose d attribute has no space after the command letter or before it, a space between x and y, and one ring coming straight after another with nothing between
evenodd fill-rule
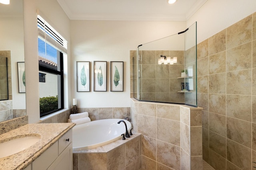
<instances>
[{"instance_id":1,"label":"cream painted wall behind the three framed leaf prints","mask_svg":"<svg viewBox=\"0 0 256 170\"><path fill-rule=\"evenodd\" d=\"M184 29L184 21L71 20L72 92L78 107L130 107L130 50ZM91 62L91 92L76 92L76 61ZM107 92L93 91L93 61L108 61ZM124 92L110 92L110 61L124 61Z\"/></svg>"}]
</instances>

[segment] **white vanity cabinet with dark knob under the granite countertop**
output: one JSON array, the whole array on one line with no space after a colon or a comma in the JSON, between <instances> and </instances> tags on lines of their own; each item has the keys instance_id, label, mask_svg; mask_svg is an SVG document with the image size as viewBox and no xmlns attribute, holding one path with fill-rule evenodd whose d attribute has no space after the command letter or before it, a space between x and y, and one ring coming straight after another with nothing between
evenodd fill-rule
<instances>
[{"instance_id":1,"label":"white vanity cabinet with dark knob under the granite countertop","mask_svg":"<svg viewBox=\"0 0 256 170\"><path fill-rule=\"evenodd\" d=\"M32 170L72 170L72 130L32 162Z\"/></svg>"}]
</instances>

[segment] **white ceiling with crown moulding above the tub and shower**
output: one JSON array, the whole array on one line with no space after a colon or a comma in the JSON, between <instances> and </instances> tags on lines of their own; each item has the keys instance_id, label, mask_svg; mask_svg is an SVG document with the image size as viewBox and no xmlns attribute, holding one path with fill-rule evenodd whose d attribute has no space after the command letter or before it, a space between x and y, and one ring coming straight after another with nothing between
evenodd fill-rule
<instances>
[{"instance_id":1,"label":"white ceiling with crown moulding above the tub and shower","mask_svg":"<svg viewBox=\"0 0 256 170\"><path fill-rule=\"evenodd\" d=\"M207 0L57 0L70 20L186 21Z\"/></svg>"}]
</instances>

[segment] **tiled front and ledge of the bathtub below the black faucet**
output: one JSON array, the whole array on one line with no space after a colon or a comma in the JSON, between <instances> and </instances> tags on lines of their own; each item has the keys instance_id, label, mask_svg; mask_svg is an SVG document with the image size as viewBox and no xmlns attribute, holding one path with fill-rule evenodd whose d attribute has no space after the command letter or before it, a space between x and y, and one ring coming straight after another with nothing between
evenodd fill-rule
<instances>
[{"instance_id":1,"label":"tiled front and ledge of the bathtub below the black faucet","mask_svg":"<svg viewBox=\"0 0 256 170\"><path fill-rule=\"evenodd\" d=\"M73 170L139 170L141 146L141 134L133 133L126 140L119 139L94 149L74 151Z\"/></svg>"}]
</instances>

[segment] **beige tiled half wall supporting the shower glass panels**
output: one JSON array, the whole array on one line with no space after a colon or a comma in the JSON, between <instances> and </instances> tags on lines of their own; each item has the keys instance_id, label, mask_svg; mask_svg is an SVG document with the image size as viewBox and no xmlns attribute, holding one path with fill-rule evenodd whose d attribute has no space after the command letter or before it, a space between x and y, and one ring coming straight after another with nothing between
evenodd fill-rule
<instances>
[{"instance_id":1,"label":"beige tiled half wall supporting the shower glass panels","mask_svg":"<svg viewBox=\"0 0 256 170\"><path fill-rule=\"evenodd\" d=\"M202 108L131 98L131 118L142 134L142 170L202 170Z\"/></svg>"}]
</instances>

